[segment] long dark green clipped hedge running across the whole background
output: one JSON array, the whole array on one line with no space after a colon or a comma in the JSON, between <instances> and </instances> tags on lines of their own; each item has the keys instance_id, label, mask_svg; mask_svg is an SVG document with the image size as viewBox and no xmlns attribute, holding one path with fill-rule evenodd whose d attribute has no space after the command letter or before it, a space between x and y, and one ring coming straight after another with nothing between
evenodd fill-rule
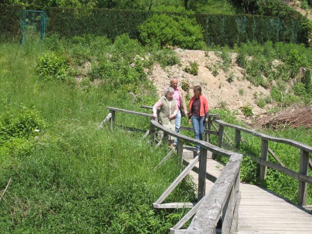
<instances>
[{"instance_id":1,"label":"long dark green clipped hedge running across the whole background","mask_svg":"<svg viewBox=\"0 0 312 234\"><path fill-rule=\"evenodd\" d=\"M18 35L20 29L17 25L20 25L20 20L17 15L20 14L21 7L0 5L0 10L3 12L0 16L0 25L6 21L11 23L4 26L4 32ZM58 33L61 37L72 37L95 34L106 35L110 39L115 39L123 33L128 33L130 37L138 39L137 26L154 14L150 11L103 8L50 7L44 10L48 16L47 35ZM195 14L191 17L195 17L205 29L204 38L208 45L214 42L216 45L233 46L234 43L240 44L253 39L259 43L267 40L307 43L305 37L307 32L301 27L300 20L281 20L277 17L253 15Z\"/></svg>"}]
</instances>

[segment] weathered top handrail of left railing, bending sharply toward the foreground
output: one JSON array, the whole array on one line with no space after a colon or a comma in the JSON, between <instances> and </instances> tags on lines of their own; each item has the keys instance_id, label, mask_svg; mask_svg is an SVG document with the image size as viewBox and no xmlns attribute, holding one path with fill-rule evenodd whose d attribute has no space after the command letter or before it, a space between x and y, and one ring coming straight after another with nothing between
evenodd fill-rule
<instances>
[{"instance_id":1,"label":"weathered top handrail of left railing, bending sharply toward the foreground","mask_svg":"<svg viewBox=\"0 0 312 234\"><path fill-rule=\"evenodd\" d=\"M185 231L186 234L213 234L215 233L215 227L222 214L222 219L224 220L224 225L222 225L222 232L230 233L230 230L234 232L237 220L233 220L233 214L234 207L238 209L235 204L237 204L237 198L239 193L239 171L243 156L241 154L224 150L208 142L176 133L173 130L170 130L160 125L156 120L151 120L151 123L156 128L159 128L160 130L171 136L177 137L178 139L181 139L185 142L198 144L200 146L201 152L202 150L209 150L217 154L230 157L229 162L223 169L221 175L216 179L210 193L204 196L200 201L201 204L199 205L199 207L196 207L196 209L198 210L195 213L195 216L191 221L190 226ZM236 182L235 186L234 182ZM226 204L228 205L226 206ZM194 215L192 214L192 210L186 216ZM233 221L235 222L235 224L233 224ZM175 231L181 228L184 223L185 222L178 223L171 230L172 233L175 233Z\"/></svg>"}]
</instances>

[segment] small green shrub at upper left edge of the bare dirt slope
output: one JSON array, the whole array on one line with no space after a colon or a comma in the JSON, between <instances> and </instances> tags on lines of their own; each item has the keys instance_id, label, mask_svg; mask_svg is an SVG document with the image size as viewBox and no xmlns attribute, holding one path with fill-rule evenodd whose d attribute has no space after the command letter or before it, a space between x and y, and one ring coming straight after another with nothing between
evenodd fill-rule
<instances>
[{"instance_id":1,"label":"small green shrub at upper left edge of the bare dirt slope","mask_svg":"<svg viewBox=\"0 0 312 234\"><path fill-rule=\"evenodd\" d=\"M166 66L173 66L180 62L176 51L168 48L153 52L151 59L157 61L162 68L165 68Z\"/></svg>"}]
</instances>

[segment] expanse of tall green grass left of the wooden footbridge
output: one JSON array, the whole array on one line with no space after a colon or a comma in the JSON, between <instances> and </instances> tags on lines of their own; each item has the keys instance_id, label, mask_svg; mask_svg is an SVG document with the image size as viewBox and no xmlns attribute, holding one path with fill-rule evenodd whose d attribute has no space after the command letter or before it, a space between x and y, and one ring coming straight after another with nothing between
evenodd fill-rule
<instances>
[{"instance_id":1,"label":"expanse of tall green grass left of the wooden footbridge","mask_svg":"<svg viewBox=\"0 0 312 234\"><path fill-rule=\"evenodd\" d=\"M0 144L0 152L9 151L9 157L0 156L1 188L12 178L1 201L1 232L168 232L186 210L156 211L152 203L180 173L177 158L154 171L166 147L150 147L142 134L119 127L97 128L108 105L139 109L128 94L104 84L86 91L76 83L37 82L37 60L45 51L41 42L0 44L1 124L16 118L22 106L47 123L36 137L11 137ZM119 113L116 122L145 130L149 125L146 118ZM25 142L32 146L27 153ZM194 200L189 179L167 198Z\"/></svg>"}]
</instances>

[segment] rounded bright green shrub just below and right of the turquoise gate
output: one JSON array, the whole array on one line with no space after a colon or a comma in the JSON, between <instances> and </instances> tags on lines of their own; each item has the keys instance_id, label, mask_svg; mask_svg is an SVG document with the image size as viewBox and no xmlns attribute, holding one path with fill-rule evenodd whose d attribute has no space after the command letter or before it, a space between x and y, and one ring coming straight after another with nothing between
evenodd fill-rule
<instances>
[{"instance_id":1,"label":"rounded bright green shrub just below and right of the turquoise gate","mask_svg":"<svg viewBox=\"0 0 312 234\"><path fill-rule=\"evenodd\" d=\"M64 80L68 63L65 58L46 52L37 62L38 81Z\"/></svg>"}]
</instances>

